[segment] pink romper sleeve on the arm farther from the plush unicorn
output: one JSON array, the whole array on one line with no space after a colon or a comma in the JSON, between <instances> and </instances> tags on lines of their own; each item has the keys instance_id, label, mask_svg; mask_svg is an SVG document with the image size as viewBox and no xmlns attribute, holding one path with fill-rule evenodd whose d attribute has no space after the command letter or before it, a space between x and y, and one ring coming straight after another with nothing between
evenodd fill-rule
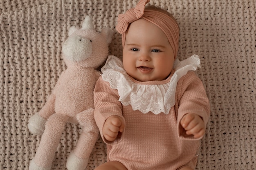
<instances>
[{"instance_id":1,"label":"pink romper sleeve on the arm farther from the plush unicorn","mask_svg":"<svg viewBox=\"0 0 256 170\"><path fill-rule=\"evenodd\" d=\"M210 116L210 104L202 81L193 71L189 71L177 83L176 89L178 134L183 139L198 140L193 135L186 135L180 121L187 113L195 113L202 117L206 125Z\"/></svg>"}]
</instances>

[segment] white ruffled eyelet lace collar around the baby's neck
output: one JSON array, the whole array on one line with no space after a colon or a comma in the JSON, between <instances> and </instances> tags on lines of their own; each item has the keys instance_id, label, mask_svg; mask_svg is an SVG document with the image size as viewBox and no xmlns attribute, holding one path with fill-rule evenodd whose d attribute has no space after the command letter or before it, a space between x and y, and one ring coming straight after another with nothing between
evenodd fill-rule
<instances>
[{"instance_id":1,"label":"white ruffled eyelet lace collar around the baby's neck","mask_svg":"<svg viewBox=\"0 0 256 170\"><path fill-rule=\"evenodd\" d=\"M110 87L118 90L119 101L133 110L142 113L161 112L168 114L175 105L175 91L178 80L190 70L195 71L200 67L198 55L192 55L186 60L174 62L175 72L163 81L139 82L130 77L123 68L122 61L109 56L105 66L101 68L102 78L109 82Z\"/></svg>"}]
</instances>

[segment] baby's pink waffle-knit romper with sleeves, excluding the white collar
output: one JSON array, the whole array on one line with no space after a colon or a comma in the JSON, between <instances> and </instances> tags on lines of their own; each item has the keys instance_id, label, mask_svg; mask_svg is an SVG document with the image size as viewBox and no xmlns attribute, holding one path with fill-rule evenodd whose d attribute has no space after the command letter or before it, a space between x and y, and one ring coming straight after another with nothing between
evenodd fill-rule
<instances>
[{"instance_id":1,"label":"baby's pink waffle-knit romper with sleeves, excluding the white collar","mask_svg":"<svg viewBox=\"0 0 256 170\"><path fill-rule=\"evenodd\" d=\"M119 74L116 76L121 77ZM133 110L130 104L121 104L120 87L112 87L114 78L106 77L99 78L95 85L94 117L103 141L108 144L108 160L119 161L128 170L177 170L182 166L194 169L200 140L194 139L193 135L186 135L180 120L186 113L196 113L207 124L210 112L203 84L195 73L189 71L178 80L175 105L168 114L143 113L141 109ZM167 84L172 80L171 77L173 73L162 81L142 82L141 88L144 91L148 89L147 92L152 95L150 88ZM131 84L137 83L131 81L132 88ZM120 86L124 87L124 84ZM133 91L139 93L137 88ZM124 119L125 129L115 141L109 142L103 137L102 129L106 119L112 115Z\"/></svg>"}]
</instances>

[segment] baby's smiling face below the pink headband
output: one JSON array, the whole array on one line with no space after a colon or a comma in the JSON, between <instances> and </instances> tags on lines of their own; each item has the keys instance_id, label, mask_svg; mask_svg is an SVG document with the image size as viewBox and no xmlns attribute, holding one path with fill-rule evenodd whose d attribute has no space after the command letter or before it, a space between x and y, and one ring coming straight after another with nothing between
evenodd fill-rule
<instances>
[{"instance_id":1,"label":"baby's smiling face below the pink headband","mask_svg":"<svg viewBox=\"0 0 256 170\"><path fill-rule=\"evenodd\" d=\"M134 79L146 82L163 80L173 68L174 54L164 32L141 18L126 31L123 64Z\"/></svg>"}]
</instances>

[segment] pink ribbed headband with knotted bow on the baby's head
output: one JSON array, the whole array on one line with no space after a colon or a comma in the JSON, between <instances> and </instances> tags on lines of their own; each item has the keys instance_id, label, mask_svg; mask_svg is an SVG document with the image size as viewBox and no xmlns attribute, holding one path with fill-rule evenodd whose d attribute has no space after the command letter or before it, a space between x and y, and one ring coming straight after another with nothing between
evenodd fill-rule
<instances>
[{"instance_id":1,"label":"pink ribbed headband with knotted bow on the baby's head","mask_svg":"<svg viewBox=\"0 0 256 170\"><path fill-rule=\"evenodd\" d=\"M158 26L166 35L171 47L173 48L174 57L176 58L179 49L179 26L165 13L146 9L145 6L150 0L140 0L135 8L126 11L125 14L120 14L117 19L117 32L122 34L122 45L125 43L125 33L130 23L144 18L145 20Z\"/></svg>"}]
</instances>

